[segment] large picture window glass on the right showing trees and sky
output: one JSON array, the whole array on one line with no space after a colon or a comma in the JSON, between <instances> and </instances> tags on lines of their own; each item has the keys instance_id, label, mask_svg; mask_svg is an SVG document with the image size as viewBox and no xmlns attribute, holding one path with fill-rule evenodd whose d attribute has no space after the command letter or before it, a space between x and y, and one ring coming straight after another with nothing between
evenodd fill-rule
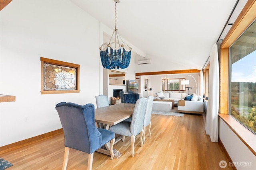
<instances>
[{"instance_id":1,"label":"large picture window glass on the right showing trees and sky","mask_svg":"<svg viewBox=\"0 0 256 170\"><path fill-rule=\"evenodd\" d=\"M230 47L229 114L256 134L256 21Z\"/></svg>"}]
</instances>

